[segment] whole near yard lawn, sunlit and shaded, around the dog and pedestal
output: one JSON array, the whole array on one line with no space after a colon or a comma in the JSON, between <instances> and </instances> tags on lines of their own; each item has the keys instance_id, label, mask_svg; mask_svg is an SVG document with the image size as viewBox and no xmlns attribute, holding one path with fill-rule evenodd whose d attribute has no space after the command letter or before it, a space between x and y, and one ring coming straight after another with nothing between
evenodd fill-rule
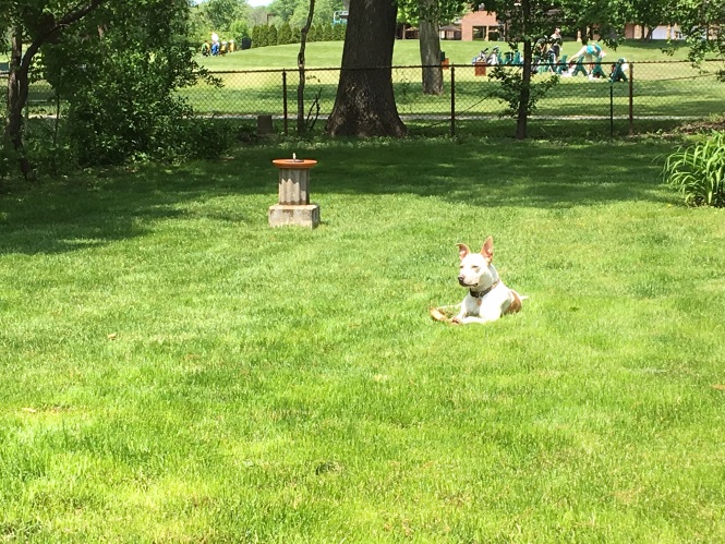
<instances>
[{"instance_id":1,"label":"whole near yard lawn, sunlit and shaded, around the dog and pedestal","mask_svg":"<svg viewBox=\"0 0 725 544\"><path fill-rule=\"evenodd\" d=\"M725 540L725 215L663 189L673 147L300 142L3 194L1 537ZM267 225L293 152L315 230ZM523 311L431 321L488 234Z\"/></svg>"}]
</instances>

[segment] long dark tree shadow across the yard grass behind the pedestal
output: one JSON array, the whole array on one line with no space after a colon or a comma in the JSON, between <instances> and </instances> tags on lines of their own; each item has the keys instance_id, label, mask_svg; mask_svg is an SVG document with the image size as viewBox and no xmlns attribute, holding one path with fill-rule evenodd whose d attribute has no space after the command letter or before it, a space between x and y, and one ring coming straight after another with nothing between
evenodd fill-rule
<instances>
[{"instance_id":1,"label":"long dark tree shadow across the yard grass behind the pedestal","mask_svg":"<svg viewBox=\"0 0 725 544\"><path fill-rule=\"evenodd\" d=\"M268 195L273 158L315 158L311 190L337 195L413 194L449 203L561 208L619 201L664 201L663 142L384 140L302 142L241 148L226 160L82 174L72 182L23 185L0 195L0 253L58 253L144 235L156 221L188 217L182 206L212 198ZM210 219L246 222L235 209ZM221 217L223 216L223 217Z\"/></svg>"}]
</instances>

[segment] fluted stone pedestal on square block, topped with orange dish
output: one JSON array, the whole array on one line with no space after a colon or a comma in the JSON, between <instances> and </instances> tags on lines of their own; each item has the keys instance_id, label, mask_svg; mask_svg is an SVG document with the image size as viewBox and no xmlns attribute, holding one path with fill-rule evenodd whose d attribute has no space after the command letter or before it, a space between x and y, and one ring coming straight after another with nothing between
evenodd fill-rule
<instances>
[{"instance_id":1,"label":"fluted stone pedestal on square block, topped with orange dish","mask_svg":"<svg viewBox=\"0 0 725 544\"><path fill-rule=\"evenodd\" d=\"M276 159L279 169L279 203L269 206L269 226L319 225L319 206L310 203L310 170L317 164L310 159Z\"/></svg>"}]
</instances>

